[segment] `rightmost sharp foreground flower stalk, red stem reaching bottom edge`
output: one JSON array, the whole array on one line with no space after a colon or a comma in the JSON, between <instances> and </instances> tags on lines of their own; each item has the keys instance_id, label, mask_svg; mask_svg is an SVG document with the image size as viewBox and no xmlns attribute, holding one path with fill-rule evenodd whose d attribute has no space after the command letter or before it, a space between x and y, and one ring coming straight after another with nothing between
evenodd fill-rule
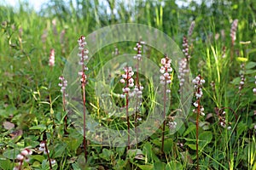
<instances>
[{"instance_id":1,"label":"rightmost sharp foreground flower stalk, red stem reaching bottom edge","mask_svg":"<svg viewBox=\"0 0 256 170\"><path fill-rule=\"evenodd\" d=\"M198 155L198 131L199 131L199 116L205 116L204 107L201 105L201 97L203 95L202 93L202 84L205 83L205 80L201 77L201 75L198 75L195 77L195 79L192 81L193 84L195 85L195 109L193 112L196 113L196 160L197 160L197 166L196 169L199 170L199 155Z\"/></svg>"}]
</instances>

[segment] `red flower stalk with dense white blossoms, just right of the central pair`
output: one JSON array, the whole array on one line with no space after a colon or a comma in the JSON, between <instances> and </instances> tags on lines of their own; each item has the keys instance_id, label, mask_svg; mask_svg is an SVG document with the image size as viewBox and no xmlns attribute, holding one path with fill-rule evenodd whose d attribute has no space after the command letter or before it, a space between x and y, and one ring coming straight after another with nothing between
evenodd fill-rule
<instances>
[{"instance_id":1,"label":"red flower stalk with dense white blossoms, just right of the central pair","mask_svg":"<svg viewBox=\"0 0 256 170\"><path fill-rule=\"evenodd\" d=\"M166 131L166 94L171 93L171 89L167 88L168 84L172 83L172 75L170 74L172 72L171 67L172 59L169 59L167 56L163 59L161 59L161 68L160 73L162 74L160 76L160 83L164 85L164 122L162 127L162 146L161 146L161 153L164 153L164 143L165 143L165 131Z\"/></svg>"}]
</instances>

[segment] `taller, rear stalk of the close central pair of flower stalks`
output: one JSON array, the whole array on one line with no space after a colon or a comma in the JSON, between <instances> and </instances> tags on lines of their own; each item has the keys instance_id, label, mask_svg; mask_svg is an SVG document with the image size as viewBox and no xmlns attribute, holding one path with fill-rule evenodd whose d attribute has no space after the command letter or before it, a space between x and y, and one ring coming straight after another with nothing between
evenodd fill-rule
<instances>
[{"instance_id":1,"label":"taller, rear stalk of the close central pair of flower stalks","mask_svg":"<svg viewBox=\"0 0 256 170\"><path fill-rule=\"evenodd\" d=\"M136 85L134 88L134 92L136 93L136 108L135 108L135 134L136 134L136 143L137 143L137 121L138 121L138 114L139 114L139 105L141 105L139 99L143 97L143 86L139 83L139 62L142 60L142 48L145 42L139 41L136 44L134 50L137 51L137 55L133 58L137 59L137 73L136 73Z\"/></svg>"}]
</instances>

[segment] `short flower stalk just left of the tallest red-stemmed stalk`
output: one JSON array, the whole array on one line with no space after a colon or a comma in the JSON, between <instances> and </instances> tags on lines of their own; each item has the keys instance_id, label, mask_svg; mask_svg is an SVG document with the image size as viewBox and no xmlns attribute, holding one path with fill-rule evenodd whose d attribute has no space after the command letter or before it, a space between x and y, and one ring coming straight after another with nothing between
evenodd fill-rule
<instances>
[{"instance_id":1,"label":"short flower stalk just left of the tallest red-stemmed stalk","mask_svg":"<svg viewBox=\"0 0 256 170\"><path fill-rule=\"evenodd\" d=\"M66 97L68 96L67 92L66 92L66 88L67 88L67 80L64 77L59 77L59 80L61 80L61 82L59 83L59 86L61 87L61 94L62 94L62 107L63 107L63 111L66 113ZM64 133L67 133L67 115L64 118Z\"/></svg>"}]
</instances>

